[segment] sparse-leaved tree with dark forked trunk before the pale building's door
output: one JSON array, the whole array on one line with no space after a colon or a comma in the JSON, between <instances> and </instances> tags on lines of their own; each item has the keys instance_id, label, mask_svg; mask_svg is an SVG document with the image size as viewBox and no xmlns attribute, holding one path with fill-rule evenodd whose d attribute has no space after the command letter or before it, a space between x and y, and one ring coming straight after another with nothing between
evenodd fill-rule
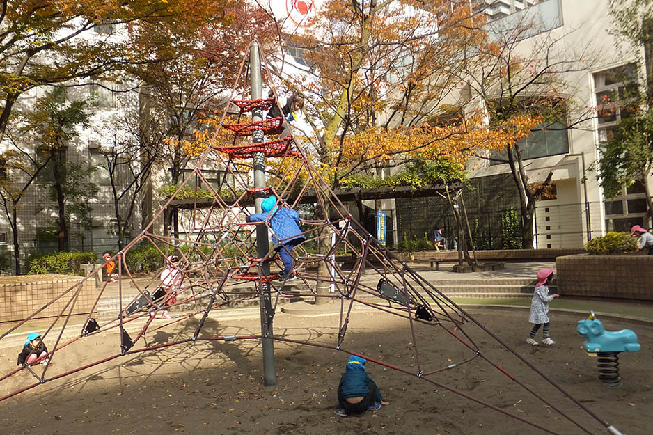
<instances>
[{"instance_id":1,"label":"sparse-leaved tree with dark forked trunk before the pale building's door","mask_svg":"<svg viewBox=\"0 0 653 435\"><path fill-rule=\"evenodd\" d=\"M549 134L590 118L590 111L574 103L567 77L586 70L592 55L586 47L572 51L565 44L567 35L541 29L528 15L523 17L507 22L507 27L498 20L479 29L453 73L471 91L467 112L487 116L490 129L512 135L501 153L479 153L478 157L510 166L519 193L521 247L533 248L535 203L553 173L537 186L531 184L524 168L524 145L519 141L528 134L519 134L519 129Z\"/></svg>"}]
</instances>

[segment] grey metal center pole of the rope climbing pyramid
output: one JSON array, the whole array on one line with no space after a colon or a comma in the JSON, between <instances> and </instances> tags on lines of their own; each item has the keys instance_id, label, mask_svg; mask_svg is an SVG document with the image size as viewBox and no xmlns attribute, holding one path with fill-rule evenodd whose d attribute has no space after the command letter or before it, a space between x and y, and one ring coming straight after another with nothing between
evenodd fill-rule
<instances>
[{"instance_id":1,"label":"grey metal center pole of the rope climbing pyramid","mask_svg":"<svg viewBox=\"0 0 653 435\"><path fill-rule=\"evenodd\" d=\"M251 68L251 95L252 100L262 98L261 83L261 60L258 49L258 42L253 40L249 46L249 65ZM263 119L262 109L253 109L252 120L260 121ZM252 142L261 143L263 141L262 130L254 130ZM255 152L253 156L254 168L254 187L265 187L265 153ZM256 212L261 213L261 203L263 202L263 193L256 193L254 203ZM265 225L256 226L256 253L258 258L263 258L269 251L267 242L267 227ZM259 278L267 277L270 274L269 262L262 262L260 265ZM276 385L276 374L274 370L274 341L272 338L272 299L270 298L270 285L261 279L259 283L260 293L260 313L261 313L261 335L263 348L263 384L265 386Z\"/></svg>"}]
</instances>

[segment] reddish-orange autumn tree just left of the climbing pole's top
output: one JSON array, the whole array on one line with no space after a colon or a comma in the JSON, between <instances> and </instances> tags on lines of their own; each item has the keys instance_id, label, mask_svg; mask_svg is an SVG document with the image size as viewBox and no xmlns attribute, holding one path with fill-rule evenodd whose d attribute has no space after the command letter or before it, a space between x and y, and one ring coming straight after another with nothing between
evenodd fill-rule
<instances>
[{"instance_id":1,"label":"reddish-orange autumn tree just left of the climbing pole's top","mask_svg":"<svg viewBox=\"0 0 653 435\"><path fill-rule=\"evenodd\" d=\"M170 38L165 45L165 61L130 70L141 81L141 96L148 104L148 113L142 113L148 120L142 129L147 133L141 132L141 139L164 137L149 153L164 165L166 182L179 184L189 161L204 150L192 145L194 132L203 129L200 120L221 109L223 93L237 77L242 52L251 40L265 42L275 35L274 20L248 2L226 5L219 15L184 38L175 33L161 35L157 26L142 32L137 43L143 50L152 39ZM150 145L148 148L153 150ZM173 219L176 217L171 213L164 216L164 234Z\"/></svg>"}]
</instances>

